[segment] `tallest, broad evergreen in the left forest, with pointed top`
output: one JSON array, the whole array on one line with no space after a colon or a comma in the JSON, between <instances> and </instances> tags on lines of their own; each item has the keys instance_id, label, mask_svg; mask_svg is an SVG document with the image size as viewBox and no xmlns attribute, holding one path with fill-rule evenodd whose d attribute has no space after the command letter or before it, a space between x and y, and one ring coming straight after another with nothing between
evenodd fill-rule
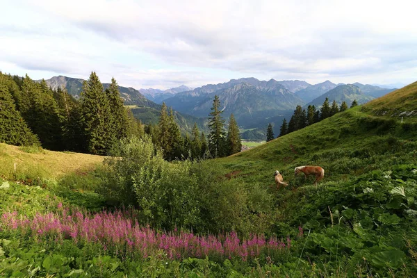
<instances>
[{"instance_id":1,"label":"tallest, broad evergreen in the left forest, with pointed top","mask_svg":"<svg viewBox=\"0 0 417 278\"><path fill-rule=\"evenodd\" d=\"M108 97L95 72L91 72L88 81L84 81L80 102L83 137L87 142L86 151L91 154L107 154L113 144L113 117Z\"/></svg>"}]
</instances>

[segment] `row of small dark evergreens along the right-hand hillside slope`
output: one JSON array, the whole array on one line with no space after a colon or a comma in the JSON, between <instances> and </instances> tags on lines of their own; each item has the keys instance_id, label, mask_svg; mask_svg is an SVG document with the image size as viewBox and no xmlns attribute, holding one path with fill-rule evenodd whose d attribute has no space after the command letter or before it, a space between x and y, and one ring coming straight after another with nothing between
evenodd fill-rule
<instances>
[{"instance_id":1,"label":"row of small dark evergreens along the right-hand hillside slope","mask_svg":"<svg viewBox=\"0 0 417 278\"><path fill-rule=\"evenodd\" d=\"M358 103L355 99L352 101L350 108L357 105ZM293 131L297 131L298 129L303 129L306 126L325 120L327 117L332 117L332 115L343 112L347 108L346 101L343 101L341 106L338 106L334 100L332 106L330 106L329 99L327 97L320 109L317 109L314 105L309 105L306 111L305 109L302 109L300 105L297 105L293 115L291 116L290 122L287 122L285 118L282 121L279 128L279 136L284 136ZM272 139L274 139L274 131L272 131L272 124L270 123L268 124L266 132L266 140L268 142Z\"/></svg>"}]
</instances>

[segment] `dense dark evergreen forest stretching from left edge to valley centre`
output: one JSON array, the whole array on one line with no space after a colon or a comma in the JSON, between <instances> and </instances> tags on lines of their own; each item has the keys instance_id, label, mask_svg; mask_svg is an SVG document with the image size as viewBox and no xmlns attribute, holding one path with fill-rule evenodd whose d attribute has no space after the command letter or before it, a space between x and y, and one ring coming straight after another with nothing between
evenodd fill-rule
<instances>
[{"instance_id":1,"label":"dense dark evergreen forest stretching from left edge to valley centre","mask_svg":"<svg viewBox=\"0 0 417 278\"><path fill-rule=\"evenodd\" d=\"M11 145L42 145L55 151L106 155L122 138L152 136L164 158L221 157L240 152L240 136L234 116L228 130L215 97L209 115L208 138L194 124L191 136L181 136L172 108L163 104L156 126L136 120L123 105L113 78L104 90L95 72L83 82L79 100L67 90L52 90L47 82L0 72L0 142Z\"/></svg>"}]
</instances>

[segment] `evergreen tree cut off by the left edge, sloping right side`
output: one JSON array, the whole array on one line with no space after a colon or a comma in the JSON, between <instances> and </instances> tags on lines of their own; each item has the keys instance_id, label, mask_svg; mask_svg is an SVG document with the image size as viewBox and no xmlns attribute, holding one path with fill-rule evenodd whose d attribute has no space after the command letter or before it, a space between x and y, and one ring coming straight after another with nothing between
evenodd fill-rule
<instances>
[{"instance_id":1,"label":"evergreen tree cut off by the left edge, sloping right side","mask_svg":"<svg viewBox=\"0 0 417 278\"><path fill-rule=\"evenodd\" d=\"M37 136L16 110L7 82L0 73L0 142L10 145L40 145Z\"/></svg>"}]
</instances>

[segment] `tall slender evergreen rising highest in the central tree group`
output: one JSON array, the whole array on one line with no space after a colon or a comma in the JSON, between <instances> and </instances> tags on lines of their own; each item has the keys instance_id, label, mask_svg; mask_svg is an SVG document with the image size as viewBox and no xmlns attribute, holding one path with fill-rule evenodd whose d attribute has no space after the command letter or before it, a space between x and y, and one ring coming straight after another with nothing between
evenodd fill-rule
<instances>
[{"instance_id":1,"label":"tall slender evergreen rising highest in the central tree group","mask_svg":"<svg viewBox=\"0 0 417 278\"><path fill-rule=\"evenodd\" d=\"M222 111L220 111L220 99L218 95L214 96L211 113L208 117L208 149L214 158L226 155L225 152L225 132Z\"/></svg>"}]
</instances>

